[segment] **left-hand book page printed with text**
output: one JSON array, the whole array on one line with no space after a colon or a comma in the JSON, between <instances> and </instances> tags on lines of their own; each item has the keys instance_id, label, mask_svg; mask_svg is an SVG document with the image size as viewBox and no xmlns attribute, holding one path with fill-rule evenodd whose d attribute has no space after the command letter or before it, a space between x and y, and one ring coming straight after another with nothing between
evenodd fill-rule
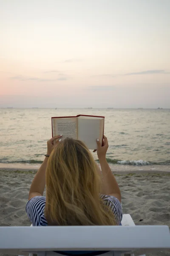
<instances>
[{"instance_id":1,"label":"left-hand book page printed with text","mask_svg":"<svg viewBox=\"0 0 170 256\"><path fill-rule=\"evenodd\" d=\"M53 137L63 135L65 138L77 139L77 117L71 118L52 118Z\"/></svg>"}]
</instances>

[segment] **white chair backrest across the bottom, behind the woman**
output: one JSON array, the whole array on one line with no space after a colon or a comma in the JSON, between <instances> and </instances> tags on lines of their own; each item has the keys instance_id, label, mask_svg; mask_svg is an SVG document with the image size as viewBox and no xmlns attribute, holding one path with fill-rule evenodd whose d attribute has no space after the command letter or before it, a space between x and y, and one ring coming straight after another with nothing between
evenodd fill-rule
<instances>
[{"instance_id":1,"label":"white chair backrest across the bottom, behind the woman","mask_svg":"<svg viewBox=\"0 0 170 256\"><path fill-rule=\"evenodd\" d=\"M0 227L0 252L120 251L170 248L167 226Z\"/></svg>"}]
</instances>

